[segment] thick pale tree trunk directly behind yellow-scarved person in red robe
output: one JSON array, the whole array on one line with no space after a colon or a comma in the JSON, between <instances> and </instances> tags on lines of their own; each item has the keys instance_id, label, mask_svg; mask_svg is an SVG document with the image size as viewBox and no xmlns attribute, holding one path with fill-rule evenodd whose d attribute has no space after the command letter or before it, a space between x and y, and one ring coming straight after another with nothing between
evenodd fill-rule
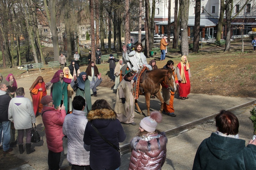
<instances>
[{"instance_id":1,"label":"thick pale tree trunk directly behind yellow-scarved person in red robe","mask_svg":"<svg viewBox=\"0 0 256 170\"><path fill-rule=\"evenodd\" d=\"M181 10L181 55L188 55L188 10L189 10L189 0L180 0L180 10Z\"/></svg>"}]
</instances>

